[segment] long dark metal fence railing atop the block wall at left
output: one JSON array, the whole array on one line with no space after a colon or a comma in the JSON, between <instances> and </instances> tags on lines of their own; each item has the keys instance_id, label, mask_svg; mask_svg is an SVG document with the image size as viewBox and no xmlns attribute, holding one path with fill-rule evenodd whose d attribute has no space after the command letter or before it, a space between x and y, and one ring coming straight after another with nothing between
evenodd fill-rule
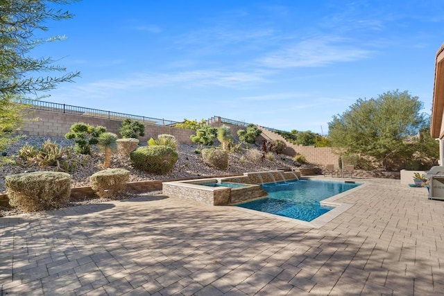
<instances>
[{"instance_id":1,"label":"long dark metal fence railing atop the block wall at left","mask_svg":"<svg viewBox=\"0 0 444 296\"><path fill-rule=\"evenodd\" d=\"M123 121L123 119L135 119L141 121L142 123L151 125L162 125L162 126L174 126L178 121L171 121L167 119L156 119L153 117L146 117L133 114L125 114L119 112L105 111L99 109L91 109L86 107L78 107L74 105L51 103L45 101L35 101L35 100L22 100L22 103L28 105L29 108L35 110L44 110L52 112L61 112L66 114L77 114L89 117L96 117L102 119L111 119Z\"/></svg>"}]
</instances>

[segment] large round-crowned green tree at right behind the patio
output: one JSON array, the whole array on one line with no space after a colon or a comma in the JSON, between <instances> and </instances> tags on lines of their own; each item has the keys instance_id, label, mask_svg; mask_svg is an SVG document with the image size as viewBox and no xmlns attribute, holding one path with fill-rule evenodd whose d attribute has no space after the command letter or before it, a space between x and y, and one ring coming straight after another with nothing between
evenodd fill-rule
<instances>
[{"instance_id":1,"label":"large round-crowned green tree at right behind the patio","mask_svg":"<svg viewBox=\"0 0 444 296\"><path fill-rule=\"evenodd\" d=\"M341 115L333 116L329 125L332 146L344 155L366 155L393 168L396 160L411 157L405 142L424 128L422 103L409 92L386 92L377 98L357 102Z\"/></svg>"}]
</instances>

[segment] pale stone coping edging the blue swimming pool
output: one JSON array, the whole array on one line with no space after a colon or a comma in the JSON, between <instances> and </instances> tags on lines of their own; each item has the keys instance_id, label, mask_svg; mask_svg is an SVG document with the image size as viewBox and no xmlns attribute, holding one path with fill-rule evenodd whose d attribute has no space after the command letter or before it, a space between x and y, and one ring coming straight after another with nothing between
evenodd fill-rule
<instances>
[{"instance_id":1,"label":"pale stone coping edging the blue swimming pool","mask_svg":"<svg viewBox=\"0 0 444 296\"><path fill-rule=\"evenodd\" d=\"M322 181L322 180L314 179L311 177L302 177L302 179ZM325 180L325 181L326 182L339 182L339 183L350 182L350 180L343 180L343 181ZM355 182L355 180L352 180L352 182ZM265 213L263 211L256 211L254 209L246 209L243 207L232 207L232 206L228 206L228 207L232 207L233 209L236 209L237 211L244 211L244 212L247 212L250 214L253 213L253 214L256 214L259 216L264 216L264 217L268 217L268 218L275 218L277 220L282 220L285 222L295 223L297 225L304 225L304 226L307 226L310 228L318 229L318 228L323 227L325 224L329 223L331 220L333 220L337 216L343 214L343 212L347 211L348 209L350 209L354 205L354 204L349 204L349 203L345 203L345 202L336 202L336 200L344 198L345 196L353 194L356 191L358 191L360 189L364 189L366 186L370 185L370 183L365 182L364 180L359 180L359 182L355 182L355 183L359 183L360 185L356 186L355 188L349 189L348 191L345 191L343 193L333 195L332 197L326 198L325 200L321 200L320 201L321 205L324 205L326 207L334 207L334 209L331 209L327 213L319 216L318 218L316 218L314 220L311 220L310 222L304 221L304 220L298 220L295 218L289 218L289 217L279 216L279 215L275 215L275 214Z\"/></svg>"}]
</instances>

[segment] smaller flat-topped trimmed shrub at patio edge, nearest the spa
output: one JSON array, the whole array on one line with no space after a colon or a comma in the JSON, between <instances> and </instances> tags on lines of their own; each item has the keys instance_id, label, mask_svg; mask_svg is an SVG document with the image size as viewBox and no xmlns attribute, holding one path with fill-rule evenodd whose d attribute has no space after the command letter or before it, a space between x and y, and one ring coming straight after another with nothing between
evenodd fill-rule
<instances>
[{"instance_id":1,"label":"smaller flat-topped trimmed shrub at patio edge, nearest the spa","mask_svg":"<svg viewBox=\"0 0 444 296\"><path fill-rule=\"evenodd\" d=\"M110 168L89 177L91 188L100 198L118 198L130 180L130 171L123 168Z\"/></svg>"}]
</instances>

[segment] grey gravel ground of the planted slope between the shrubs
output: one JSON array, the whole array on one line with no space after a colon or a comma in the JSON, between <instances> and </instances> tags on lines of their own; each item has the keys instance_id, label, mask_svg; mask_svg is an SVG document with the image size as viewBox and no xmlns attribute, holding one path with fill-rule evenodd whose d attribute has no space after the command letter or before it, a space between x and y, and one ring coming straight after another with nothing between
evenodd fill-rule
<instances>
[{"instance_id":1,"label":"grey gravel ground of the planted slope between the shrubs","mask_svg":"<svg viewBox=\"0 0 444 296\"><path fill-rule=\"evenodd\" d=\"M56 171L56 167L46 166L39 167L37 164L30 164L22 162L16 156L17 151L24 143L29 143L31 146L41 147L42 143L47 139L58 143L59 146L71 146L72 141L65 138L58 137L24 137L6 150L8 156L12 156L12 164L0 162L0 193L3 191L5 193L5 177L6 175L12 175L17 173L33 172L33 171ZM179 159L176 162L173 170L171 170L166 175L155 175L150 173L145 173L143 171L136 170L131 165L128 157L124 155L119 155L114 153L112 155L111 167L112 168L125 168L130 171L130 182L144 181L144 180L168 180L168 179L180 179L186 177L199 177L199 176L213 176L213 175L224 175L224 174L234 174L234 173L246 173L255 171L271 171L276 168L281 168L282 166L287 166L292 169L296 169L293 166L293 160L287 155L273 155L274 159L261 159L254 160L252 157L248 157L251 151L244 150L243 153L230 153L228 160L228 169L226 171L221 171L217 168L213 168L205 164L202 160L200 154L196 154L196 145L180 145L178 147ZM78 165L76 171L71 173L73 187L78 186L89 186L89 176L96 173L97 171L103 170L103 153L97 148L93 148L92 155L86 155L84 158L84 165ZM123 197L128 198L128 197ZM102 202L103 200L88 200L87 203L91 202ZM83 202L85 203L85 202ZM78 203L77 203L78 204ZM71 203L71 205L76 205L76 203ZM4 211L5 209L0 209L0 215L6 216L8 214L17 214L17 211Z\"/></svg>"}]
</instances>

